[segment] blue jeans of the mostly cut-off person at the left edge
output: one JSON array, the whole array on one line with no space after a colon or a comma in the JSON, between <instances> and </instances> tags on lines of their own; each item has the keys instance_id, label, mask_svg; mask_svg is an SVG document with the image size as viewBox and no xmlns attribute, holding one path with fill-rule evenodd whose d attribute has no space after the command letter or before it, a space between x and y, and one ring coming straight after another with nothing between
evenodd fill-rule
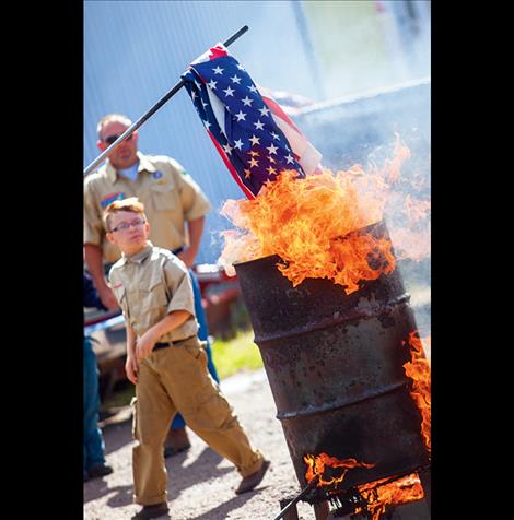
<instances>
[{"instance_id":1,"label":"blue jeans of the mostly cut-off person at the left edge","mask_svg":"<svg viewBox=\"0 0 514 520\"><path fill-rule=\"evenodd\" d=\"M83 472L97 464L104 464L104 439L98 428L100 393L98 367L93 343L84 338L84 461Z\"/></svg>"}]
</instances>

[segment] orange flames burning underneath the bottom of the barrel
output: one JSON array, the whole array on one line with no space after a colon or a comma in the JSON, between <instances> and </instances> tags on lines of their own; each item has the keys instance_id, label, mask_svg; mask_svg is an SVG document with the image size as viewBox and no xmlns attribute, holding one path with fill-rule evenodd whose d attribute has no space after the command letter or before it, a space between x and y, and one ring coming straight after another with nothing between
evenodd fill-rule
<instances>
[{"instance_id":1,"label":"orange flames burning underneath the bottom of the barrel","mask_svg":"<svg viewBox=\"0 0 514 520\"><path fill-rule=\"evenodd\" d=\"M365 508L358 508L355 513L366 512L372 515L372 520L378 520L385 512L386 506L407 504L424 497L423 487L417 473L383 484L389 478L371 482L358 486L361 496L366 500Z\"/></svg>"}]
</instances>

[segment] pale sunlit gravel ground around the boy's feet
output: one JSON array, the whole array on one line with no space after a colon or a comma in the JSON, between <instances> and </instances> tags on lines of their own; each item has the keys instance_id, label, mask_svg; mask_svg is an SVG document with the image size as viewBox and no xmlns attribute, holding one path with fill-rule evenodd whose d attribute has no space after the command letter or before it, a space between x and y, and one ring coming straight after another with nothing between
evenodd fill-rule
<instances>
[{"instance_id":1,"label":"pale sunlit gravel ground around the boy's feet","mask_svg":"<svg viewBox=\"0 0 514 520\"><path fill-rule=\"evenodd\" d=\"M300 492L265 370L226 378L221 388L271 466L255 491L235 495L241 477L232 463L189 430L191 449L166 459L171 516L163 519L271 520L280 511L280 500ZM128 519L140 508L132 504L130 410L121 411L103 430L114 473L84 484L84 520ZM301 520L315 518L308 504L300 503L297 510Z\"/></svg>"}]
</instances>

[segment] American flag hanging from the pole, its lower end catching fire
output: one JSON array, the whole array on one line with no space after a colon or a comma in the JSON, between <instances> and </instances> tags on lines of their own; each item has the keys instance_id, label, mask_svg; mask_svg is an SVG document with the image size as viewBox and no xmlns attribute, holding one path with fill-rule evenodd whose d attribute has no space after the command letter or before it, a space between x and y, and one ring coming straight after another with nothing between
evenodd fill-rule
<instances>
[{"instance_id":1,"label":"American flag hanging from the pole, its lower end catching fire","mask_svg":"<svg viewBox=\"0 0 514 520\"><path fill-rule=\"evenodd\" d=\"M305 177L320 167L319 152L223 44L195 60L182 79L209 137L248 199L284 169Z\"/></svg>"}]
</instances>

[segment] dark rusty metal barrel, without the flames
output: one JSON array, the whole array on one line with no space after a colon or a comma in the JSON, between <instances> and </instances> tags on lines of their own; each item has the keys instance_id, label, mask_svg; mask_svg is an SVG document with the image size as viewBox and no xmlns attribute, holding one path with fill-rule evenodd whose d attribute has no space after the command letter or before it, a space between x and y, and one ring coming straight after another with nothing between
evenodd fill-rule
<instances>
[{"instance_id":1,"label":"dark rusty metal barrel, without the flames","mask_svg":"<svg viewBox=\"0 0 514 520\"><path fill-rule=\"evenodd\" d=\"M384 222L359 232L388 238ZM425 468L421 413L402 367L417 326L398 268L347 295L326 279L293 287L279 261L234 267L300 485L307 453L375 464L349 471L341 489Z\"/></svg>"}]
</instances>

